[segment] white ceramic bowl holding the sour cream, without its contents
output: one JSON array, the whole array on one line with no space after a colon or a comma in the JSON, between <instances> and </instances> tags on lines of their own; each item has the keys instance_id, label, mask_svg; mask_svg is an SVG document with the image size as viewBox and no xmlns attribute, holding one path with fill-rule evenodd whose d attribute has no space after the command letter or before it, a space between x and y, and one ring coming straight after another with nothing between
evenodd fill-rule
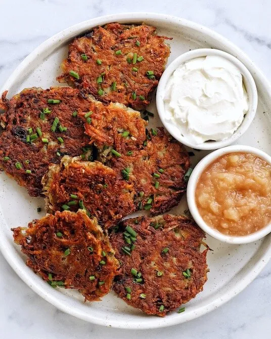
<instances>
[{"instance_id":1,"label":"white ceramic bowl holding the sour cream, without its contents","mask_svg":"<svg viewBox=\"0 0 271 339\"><path fill-rule=\"evenodd\" d=\"M180 65L182 65L184 62L200 58L200 57L206 57L209 55L213 56L220 56L224 59L229 60L232 62L236 67L239 68L242 76L243 76L243 83L245 85L247 94L248 94L248 100L249 100L249 110L246 113L244 120L242 121L239 128L234 132L234 134L225 140L222 141L206 141L202 144L193 144L189 142L179 131L179 133L173 128L172 124L165 119L165 108L164 108L164 95L165 95L165 88L167 85L167 82L172 75L172 73L175 71L176 68L178 68ZM168 131L169 134L172 135L176 140L178 140L180 143L196 148L196 149L204 149L204 150L212 150L212 149L218 149L221 147L228 146L232 144L234 141L236 141L239 137L241 137L242 134L246 132L246 130L249 128L249 125L251 124L255 113L257 109L258 104L258 94L257 94L257 88L255 81L249 72L249 70L246 68L244 64L242 64L241 61L239 61L237 58L232 56L229 53L215 50L215 49L198 49L193 50L187 53L184 53L180 55L178 58L173 60L171 64L165 69L163 75L161 76L161 79L159 81L158 87L157 87L157 94L156 94L156 105L158 114L160 116L160 119L165 127L165 129Z\"/></svg>"}]
</instances>

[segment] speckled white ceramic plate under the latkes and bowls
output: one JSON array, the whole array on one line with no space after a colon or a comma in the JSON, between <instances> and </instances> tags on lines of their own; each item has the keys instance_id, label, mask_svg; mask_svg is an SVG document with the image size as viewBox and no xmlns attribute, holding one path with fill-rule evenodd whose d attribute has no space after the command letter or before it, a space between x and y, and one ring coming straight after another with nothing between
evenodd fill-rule
<instances>
[{"instance_id":1,"label":"speckled white ceramic plate under the latkes and bowls","mask_svg":"<svg viewBox=\"0 0 271 339\"><path fill-rule=\"evenodd\" d=\"M56 76L60 73L60 63L67 55L67 45L76 35L91 30L97 25L109 22L142 23L157 27L158 34L173 37L169 41L171 62L180 54L196 48L216 48L231 53L250 70L258 88L259 104L256 117L249 130L238 140L239 144L258 147L270 153L271 141L271 88L261 71L249 58L230 41L219 34L193 22L161 14L129 13L101 17L82 22L53 36L32 52L14 71L4 87L9 90L8 97L26 87L58 86ZM149 110L156 113L155 100ZM157 120L156 120L157 119ZM150 119L151 126L160 125L158 118ZM207 151L197 152L192 157L198 162ZM60 310L75 317L100 325L121 328L155 328L182 323L210 312L227 302L244 289L261 271L271 257L271 235L246 245L231 245L207 237L207 243L213 249L208 253L208 281L204 290L187 303L183 313L172 312L164 318L147 316L143 312L127 306L112 292L101 302L84 303L76 291L53 289L35 275L26 265L25 257L19 246L13 243L11 227L25 226L37 214L38 206L44 207L42 198L30 198L25 189L0 174L0 248L16 273L42 298ZM171 213L182 213L186 208L186 197ZM44 208L43 208L44 211ZM34 311L34 310L33 310ZM36 310L38 312L38 310Z\"/></svg>"}]
</instances>

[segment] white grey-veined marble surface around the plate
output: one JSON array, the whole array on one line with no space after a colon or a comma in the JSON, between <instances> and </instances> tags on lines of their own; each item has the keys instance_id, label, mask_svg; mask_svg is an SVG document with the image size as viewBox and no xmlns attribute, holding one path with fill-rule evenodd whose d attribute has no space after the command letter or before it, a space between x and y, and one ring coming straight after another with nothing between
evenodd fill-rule
<instances>
[{"instance_id":1,"label":"white grey-veined marble surface around the plate","mask_svg":"<svg viewBox=\"0 0 271 339\"><path fill-rule=\"evenodd\" d=\"M0 0L0 85L42 41L80 21L119 12L158 12L206 25L242 48L271 79L269 0ZM0 338L270 338L271 262L235 299L178 326L149 331L105 328L43 301L0 255Z\"/></svg>"}]
</instances>

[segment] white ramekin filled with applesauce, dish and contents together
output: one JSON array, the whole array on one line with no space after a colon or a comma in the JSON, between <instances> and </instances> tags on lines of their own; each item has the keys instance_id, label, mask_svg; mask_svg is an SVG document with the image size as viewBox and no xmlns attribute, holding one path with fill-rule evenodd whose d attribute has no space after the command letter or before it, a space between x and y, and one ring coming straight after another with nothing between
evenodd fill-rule
<instances>
[{"instance_id":1,"label":"white ramekin filled with applesauce, dish and contents together","mask_svg":"<svg viewBox=\"0 0 271 339\"><path fill-rule=\"evenodd\" d=\"M250 146L228 146L204 157L188 182L196 223L217 240L242 244L271 232L271 156Z\"/></svg>"}]
</instances>

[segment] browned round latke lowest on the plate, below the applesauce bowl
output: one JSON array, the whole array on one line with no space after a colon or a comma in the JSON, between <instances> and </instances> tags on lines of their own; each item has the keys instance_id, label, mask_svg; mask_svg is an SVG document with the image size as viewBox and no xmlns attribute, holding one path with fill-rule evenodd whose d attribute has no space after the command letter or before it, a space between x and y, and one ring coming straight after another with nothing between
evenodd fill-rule
<instances>
[{"instance_id":1,"label":"browned round latke lowest on the plate, below the applesauce bowl","mask_svg":"<svg viewBox=\"0 0 271 339\"><path fill-rule=\"evenodd\" d=\"M110 236L121 266L113 289L130 306L165 316L203 289L208 272L208 248L199 250L203 237L184 216L125 220Z\"/></svg>"}]
</instances>

